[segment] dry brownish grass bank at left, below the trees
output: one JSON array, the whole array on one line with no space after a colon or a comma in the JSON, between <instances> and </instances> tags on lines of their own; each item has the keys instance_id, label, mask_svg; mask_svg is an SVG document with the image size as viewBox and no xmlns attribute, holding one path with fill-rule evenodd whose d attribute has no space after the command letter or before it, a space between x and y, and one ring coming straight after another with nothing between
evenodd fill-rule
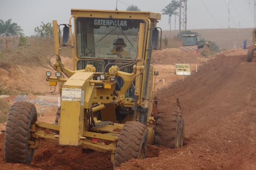
<instances>
[{"instance_id":1,"label":"dry brownish grass bank at left, below the trees","mask_svg":"<svg viewBox=\"0 0 256 170\"><path fill-rule=\"evenodd\" d=\"M33 38L30 45L31 38L27 37L27 39L29 42L23 46L15 44L14 47L8 45L8 48L6 48L6 45L2 45L0 68L8 71L16 65L49 67L49 56L55 53L53 40L37 40ZM15 40L15 42L17 41ZM61 56L72 57L71 48L61 48Z\"/></svg>"}]
</instances>

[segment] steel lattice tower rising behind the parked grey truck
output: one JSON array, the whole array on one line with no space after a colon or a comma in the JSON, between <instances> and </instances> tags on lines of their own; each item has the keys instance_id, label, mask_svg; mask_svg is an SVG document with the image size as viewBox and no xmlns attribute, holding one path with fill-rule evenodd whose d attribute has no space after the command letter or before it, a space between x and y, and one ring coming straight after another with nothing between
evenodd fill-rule
<instances>
[{"instance_id":1,"label":"steel lattice tower rising behind the parked grey truck","mask_svg":"<svg viewBox=\"0 0 256 170\"><path fill-rule=\"evenodd\" d=\"M181 38L181 31L185 31L187 27L187 0L180 0L180 29L179 29L179 38Z\"/></svg>"}]
</instances>

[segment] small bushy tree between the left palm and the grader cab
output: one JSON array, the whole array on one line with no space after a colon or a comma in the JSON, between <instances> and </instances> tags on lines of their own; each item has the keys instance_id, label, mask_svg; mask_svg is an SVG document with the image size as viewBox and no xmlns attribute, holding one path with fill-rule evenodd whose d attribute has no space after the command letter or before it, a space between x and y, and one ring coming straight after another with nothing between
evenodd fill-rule
<instances>
[{"instance_id":1,"label":"small bushy tree between the left palm and the grader cab","mask_svg":"<svg viewBox=\"0 0 256 170\"><path fill-rule=\"evenodd\" d=\"M35 33L41 37L53 37L52 23L41 22L41 26L35 27Z\"/></svg>"}]
</instances>

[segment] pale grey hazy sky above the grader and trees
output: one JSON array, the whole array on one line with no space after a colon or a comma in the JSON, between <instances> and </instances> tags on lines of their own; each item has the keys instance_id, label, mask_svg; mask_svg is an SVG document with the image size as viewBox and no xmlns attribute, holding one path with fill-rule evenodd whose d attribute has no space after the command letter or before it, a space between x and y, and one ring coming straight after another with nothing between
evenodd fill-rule
<instances>
[{"instance_id":1,"label":"pale grey hazy sky above the grader and trees","mask_svg":"<svg viewBox=\"0 0 256 170\"><path fill-rule=\"evenodd\" d=\"M127 5L136 5L141 11L162 13L162 9L171 0L121 0L119 10L126 10ZM188 0L187 29L228 28L229 0ZM127 5L125 5L126 3ZM34 35L34 28L44 23L58 20L68 23L71 8L81 9L116 9L116 0L0 0L0 19L12 19L24 30L27 36ZM169 29L169 17L162 15L157 26ZM240 23L239 23L240 22ZM175 17L171 27L175 29ZM230 0L230 28L254 27L254 1ZM176 29L178 29L178 18Z\"/></svg>"}]
</instances>

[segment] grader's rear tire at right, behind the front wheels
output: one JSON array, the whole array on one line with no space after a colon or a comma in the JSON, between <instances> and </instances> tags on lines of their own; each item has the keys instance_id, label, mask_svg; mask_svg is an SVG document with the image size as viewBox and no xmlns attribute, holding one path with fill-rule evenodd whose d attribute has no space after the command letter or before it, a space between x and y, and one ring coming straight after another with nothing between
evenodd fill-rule
<instances>
[{"instance_id":1,"label":"grader's rear tire at right, behind the front wheels","mask_svg":"<svg viewBox=\"0 0 256 170\"><path fill-rule=\"evenodd\" d=\"M184 143L184 119L177 111L159 111L156 121L154 144L170 148Z\"/></svg>"}]
</instances>

